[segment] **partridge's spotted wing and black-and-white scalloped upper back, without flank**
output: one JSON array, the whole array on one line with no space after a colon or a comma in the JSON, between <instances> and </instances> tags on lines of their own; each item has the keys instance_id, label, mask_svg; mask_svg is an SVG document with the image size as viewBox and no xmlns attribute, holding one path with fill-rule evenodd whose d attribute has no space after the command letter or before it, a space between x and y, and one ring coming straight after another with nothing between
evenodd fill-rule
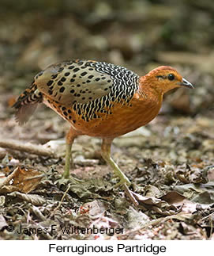
<instances>
[{"instance_id":1,"label":"partridge's spotted wing and black-and-white scalloped upper back, without flank","mask_svg":"<svg viewBox=\"0 0 214 256\"><path fill-rule=\"evenodd\" d=\"M114 64L73 60L47 67L35 77L38 89L63 105L86 104L107 94L128 97L138 76Z\"/></svg>"}]
</instances>

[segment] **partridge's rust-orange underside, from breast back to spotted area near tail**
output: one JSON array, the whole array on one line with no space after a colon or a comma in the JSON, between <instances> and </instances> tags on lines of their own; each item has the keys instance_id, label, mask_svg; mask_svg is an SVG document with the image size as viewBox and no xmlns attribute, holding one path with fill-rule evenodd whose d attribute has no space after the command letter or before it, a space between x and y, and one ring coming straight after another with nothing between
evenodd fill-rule
<instances>
[{"instance_id":1,"label":"partridge's rust-orange underside, from breast back to spotted area near tail","mask_svg":"<svg viewBox=\"0 0 214 256\"><path fill-rule=\"evenodd\" d=\"M45 98L43 103L68 120L78 132L88 136L111 138L122 136L148 124L157 116L161 106L161 101L155 97L144 100L133 97L128 104L112 102L111 109L107 109L104 113L96 111L91 113L89 109L92 118L87 118L89 117L87 111L84 114L79 111L80 105L77 108L58 105L50 98Z\"/></svg>"}]
</instances>

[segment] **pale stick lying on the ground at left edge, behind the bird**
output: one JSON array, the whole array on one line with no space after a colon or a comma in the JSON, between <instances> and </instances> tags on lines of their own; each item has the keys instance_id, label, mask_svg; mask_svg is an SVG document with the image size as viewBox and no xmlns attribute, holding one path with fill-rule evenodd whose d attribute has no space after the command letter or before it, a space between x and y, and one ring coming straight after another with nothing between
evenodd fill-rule
<instances>
[{"instance_id":1,"label":"pale stick lying on the ground at left edge, behind the bird","mask_svg":"<svg viewBox=\"0 0 214 256\"><path fill-rule=\"evenodd\" d=\"M34 155L54 156L53 152L43 148L41 145L21 143L15 139L0 139L0 147L9 148L16 151L28 152L29 154Z\"/></svg>"}]
</instances>

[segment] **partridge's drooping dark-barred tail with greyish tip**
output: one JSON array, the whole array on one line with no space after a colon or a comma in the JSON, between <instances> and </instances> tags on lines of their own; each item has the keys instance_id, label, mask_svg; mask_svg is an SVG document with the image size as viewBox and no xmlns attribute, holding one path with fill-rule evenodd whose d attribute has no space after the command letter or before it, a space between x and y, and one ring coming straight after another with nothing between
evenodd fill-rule
<instances>
[{"instance_id":1,"label":"partridge's drooping dark-barred tail with greyish tip","mask_svg":"<svg viewBox=\"0 0 214 256\"><path fill-rule=\"evenodd\" d=\"M42 101L42 94L37 89L36 83L32 82L32 85L24 90L12 106L17 109L16 120L19 124L26 123L36 110L37 104Z\"/></svg>"}]
</instances>

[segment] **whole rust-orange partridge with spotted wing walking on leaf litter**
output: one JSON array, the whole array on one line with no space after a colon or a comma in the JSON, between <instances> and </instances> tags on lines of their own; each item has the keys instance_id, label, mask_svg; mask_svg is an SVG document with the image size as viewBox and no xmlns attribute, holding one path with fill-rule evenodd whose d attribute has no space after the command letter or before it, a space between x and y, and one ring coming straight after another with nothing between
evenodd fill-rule
<instances>
[{"instance_id":1,"label":"whole rust-orange partridge with spotted wing walking on leaf litter","mask_svg":"<svg viewBox=\"0 0 214 256\"><path fill-rule=\"evenodd\" d=\"M64 177L69 177L73 139L88 135L103 138L103 159L122 182L130 184L111 159L112 139L148 124L159 113L163 94L180 86L193 88L172 67L157 67L140 77L125 67L77 59L39 72L14 107L21 124L28 120L39 102L69 121Z\"/></svg>"}]
</instances>

